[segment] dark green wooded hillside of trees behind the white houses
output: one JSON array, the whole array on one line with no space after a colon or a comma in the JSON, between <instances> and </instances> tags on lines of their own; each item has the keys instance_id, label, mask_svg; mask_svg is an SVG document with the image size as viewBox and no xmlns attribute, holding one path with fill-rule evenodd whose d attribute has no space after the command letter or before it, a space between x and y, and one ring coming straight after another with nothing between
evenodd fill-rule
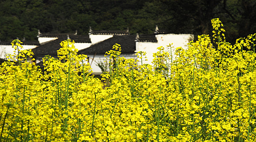
<instances>
[{"instance_id":1,"label":"dark green wooded hillside of trees behind the white houses","mask_svg":"<svg viewBox=\"0 0 256 142\"><path fill-rule=\"evenodd\" d=\"M37 40L41 32L126 30L131 34L160 30L210 34L220 18L226 39L256 32L256 0L0 0L0 40Z\"/></svg>"}]
</instances>

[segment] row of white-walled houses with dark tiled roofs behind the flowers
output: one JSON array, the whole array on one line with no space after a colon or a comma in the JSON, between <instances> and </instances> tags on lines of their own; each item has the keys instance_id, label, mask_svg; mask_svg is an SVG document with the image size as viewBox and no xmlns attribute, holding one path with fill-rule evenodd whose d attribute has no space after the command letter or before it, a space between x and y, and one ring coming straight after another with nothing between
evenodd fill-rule
<instances>
[{"instance_id":1,"label":"row of white-walled houses with dark tiled roofs behind the flowers","mask_svg":"<svg viewBox=\"0 0 256 142\"><path fill-rule=\"evenodd\" d=\"M157 47L173 43L174 51L176 47L187 49L187 43L193 39L191 34L171 34L170 32L160 31L156 26L154 34L148 35L130 35L129 29L126 31L89 31L89 35L75 34L42 34L38 30L38 41L24 42L24 49L32 49L36 59L35 63L39 64L45 55L57 57L57 50L60 49L59 43L66 39L75 41L75 47L79 50L78 54L86 54L89 58L89 63L93 69L93 74L101 74L102 70L98 63L105 60L104 54L112 49L115 43L122 47L121 56L125 58L137 59L135 55L137 51L146 51L148 61L143 63L151 64L153 61L153 53L156 53ZM0 42L0 58L6 59L6 54L13 54L11 42ZM174 53L173 53L174 58ZM140 64L140 62L138 62ZM42 65L42 63L41 63Z\"/></svg>"}]
</instances>

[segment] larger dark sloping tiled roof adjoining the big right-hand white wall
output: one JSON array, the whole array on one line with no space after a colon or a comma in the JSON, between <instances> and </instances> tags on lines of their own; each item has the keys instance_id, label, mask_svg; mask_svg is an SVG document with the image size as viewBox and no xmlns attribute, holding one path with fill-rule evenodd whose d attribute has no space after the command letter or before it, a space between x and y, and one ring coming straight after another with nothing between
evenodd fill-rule
<instances>
[{"instance_id":1,"label":"larger dark sloping tiled roof adjoining the big right-hand white wall","mask_svg":"<svg viewBox=\"0 0 256 142\"><path fill-rule=\"evenodd\" d=\"M106 39L105 41L91 45L86 49L78 51L78 54L105 54L106 51L112 49L112 46L116 43L121 45L122 53L134 53L135 51L135 36L136 35L114 35L112 38Z\"/></svg>"}]
</instances>

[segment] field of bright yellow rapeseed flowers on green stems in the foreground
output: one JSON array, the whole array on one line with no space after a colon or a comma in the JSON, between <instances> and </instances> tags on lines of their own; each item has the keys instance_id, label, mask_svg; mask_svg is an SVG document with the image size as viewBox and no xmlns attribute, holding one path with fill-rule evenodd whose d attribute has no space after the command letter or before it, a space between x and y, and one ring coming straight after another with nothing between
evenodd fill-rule
<instances>
[{"instance_id":1,"label":"field of bright yellow rapeseed flowers on green stems in the foreground","mask_svg":"<svg viewBox=\"0 0 256 142\"><path fill-rule=\"evenodd\" d=\"M143 51L120 57L115 44L102 79L74 41L60 43L59 59L44 57L42 72L14 40L17 54L0 66L0 141L256 141L256 34L230 45L221 21L212 26L213 40L158 47L154 66Z\"/></svg>"}]
</instances>

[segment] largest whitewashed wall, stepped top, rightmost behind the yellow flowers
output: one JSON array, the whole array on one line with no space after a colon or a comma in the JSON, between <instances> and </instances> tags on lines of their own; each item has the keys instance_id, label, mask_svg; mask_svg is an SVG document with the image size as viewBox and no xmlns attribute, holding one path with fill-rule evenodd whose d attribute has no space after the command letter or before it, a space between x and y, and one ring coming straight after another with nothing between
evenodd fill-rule
<instances>
[{"instance_id":1,"label":"largest whitewashed wall, stepped top, rightmost behind the yellow flowers","mask_svg":"<svg viewBox=\"0 0 256 142\"><path fill-rule=\"evenodd\" d=\"M176 47L182 47L183 49L187 49L189 39L193 37L191 34L159 34L155 35L157 38L156 42L136 42L136 51L146 51L146 56L148 61L143 61L145 64L153 65L151 62L153 61L153 53L156 53L157 47L163 46L166 49L166 46L169 43L173 43L174 48L172 48L172 55L174 56L174 50ZM140 62L138 63L140 65Z\"/></svg>"}]
</instances>

